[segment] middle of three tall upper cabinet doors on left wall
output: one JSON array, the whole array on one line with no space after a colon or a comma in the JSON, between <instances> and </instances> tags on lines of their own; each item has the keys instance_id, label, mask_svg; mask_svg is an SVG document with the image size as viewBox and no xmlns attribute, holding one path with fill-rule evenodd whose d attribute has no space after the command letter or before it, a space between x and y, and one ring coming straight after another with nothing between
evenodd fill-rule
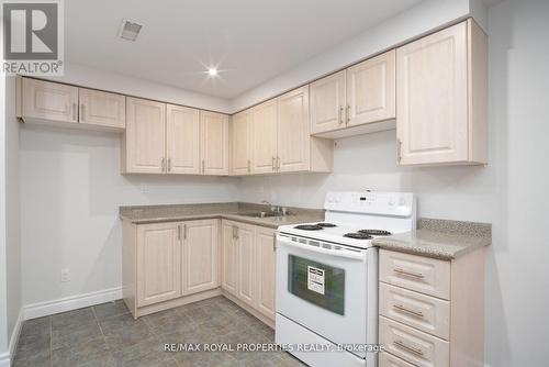
<instances>
[{"instance_id":1,"label":"middle of three tall upper cabinet doors on left wall","mask_svg":"<svg viewBox=\"0 0 549 367\"><path fill-rule=\"evenodd\" d=\"M200 112L166 107L166 156L168 174L200 174Z\"/></svg>"}]
</instances>

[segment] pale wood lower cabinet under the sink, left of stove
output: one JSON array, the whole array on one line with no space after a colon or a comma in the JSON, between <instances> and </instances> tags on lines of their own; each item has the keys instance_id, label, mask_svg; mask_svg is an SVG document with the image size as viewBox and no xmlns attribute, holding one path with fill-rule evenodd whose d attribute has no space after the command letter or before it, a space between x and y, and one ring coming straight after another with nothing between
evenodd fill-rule
<instances>
[{"instance_id":1,"label":"pale wood lower cabinet under the sink, left of stove","mask_svg":"<svg viewBox=\"0 0 549 367\"><path fill-rule=\"evenodd\" d=\"M222 221L222 288L274 320L276 230Z\"/></svg>"}]
</instances>

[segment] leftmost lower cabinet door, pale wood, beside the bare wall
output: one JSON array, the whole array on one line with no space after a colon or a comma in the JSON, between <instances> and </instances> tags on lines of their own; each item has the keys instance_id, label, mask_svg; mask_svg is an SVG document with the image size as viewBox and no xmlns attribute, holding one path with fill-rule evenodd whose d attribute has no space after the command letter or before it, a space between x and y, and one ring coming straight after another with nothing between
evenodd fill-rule
<instances>
[{"instance_id":1,"label":"leftmost lower cabinet door, pale wood, beside the bare wall","mask_svg":"<svg viewBox=\"0 0 549 367\"><path fill-rule=\"evenodd\" d=\"M137 307L181 296L178 223L137 225Z\"/></svg>"}]
</instances>

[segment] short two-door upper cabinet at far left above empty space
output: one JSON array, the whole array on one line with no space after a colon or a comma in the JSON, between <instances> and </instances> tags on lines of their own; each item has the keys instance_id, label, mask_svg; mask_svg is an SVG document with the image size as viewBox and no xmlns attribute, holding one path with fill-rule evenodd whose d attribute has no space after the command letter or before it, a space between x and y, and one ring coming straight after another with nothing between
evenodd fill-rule
<instances>
[{"instance_id":1,"label":"short two-door upper cabinet at far left above empty space","mask_svg":"<svg viewBox=\"0 0 549 367\"><path fill-rule=\"evenodd\" d=\"M19 116L24 121L125 127L126 98L122 94L30 78L18 78L18 88Z\"/></svg>"}]
</instances>

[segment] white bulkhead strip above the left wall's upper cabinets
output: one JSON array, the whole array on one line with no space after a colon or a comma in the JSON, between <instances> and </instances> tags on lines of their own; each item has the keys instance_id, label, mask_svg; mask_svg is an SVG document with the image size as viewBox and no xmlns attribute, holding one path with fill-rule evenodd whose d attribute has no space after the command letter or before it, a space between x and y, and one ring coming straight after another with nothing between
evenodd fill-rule
<instances>
[{"instance_id":1,"label":"white bulkhead strip above the left wall's upper cabinets","mask_svg":"<svg viewBox=\"0 0 549 367\"><path fill-rule=\"evenodd\" d=\"M199 109L231 112L229 101L222 98L205 96L146 79L102 71L83 65L67 64L63 77L49 77L48 79Z\"/></svg>"}]
</instances>

